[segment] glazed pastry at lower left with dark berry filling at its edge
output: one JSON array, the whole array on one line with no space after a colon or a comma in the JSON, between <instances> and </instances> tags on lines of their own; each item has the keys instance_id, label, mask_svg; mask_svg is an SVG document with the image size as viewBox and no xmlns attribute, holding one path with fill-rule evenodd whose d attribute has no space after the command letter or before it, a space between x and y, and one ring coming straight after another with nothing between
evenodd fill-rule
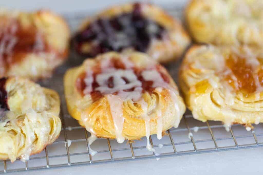
<instances>
[{"instance_id":1,"label":"glazed pastry at lower left with dark berry filling at its edge","mask_svg":"<svg viewBox=\"0 0 263 175\"><path fill-rule=\"evenodd\" d=\"M0 159L22 161L41 152L61 130L58 94L28 79L0 79Z\"/></svg>"}]
</instances>

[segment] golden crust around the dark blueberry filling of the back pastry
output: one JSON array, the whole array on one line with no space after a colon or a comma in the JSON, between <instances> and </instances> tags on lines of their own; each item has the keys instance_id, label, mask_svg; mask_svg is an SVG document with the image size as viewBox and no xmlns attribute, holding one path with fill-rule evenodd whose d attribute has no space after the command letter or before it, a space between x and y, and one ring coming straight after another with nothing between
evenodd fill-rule
<instances>
[{"instance_id":1,"label":"golden crust around the dark blueberry filling of the back pastry","mask_svg":"<svg viewBox=\"0 0 263 175\"><path fill-rule=\"evenodd\" d=\"M142 3L141 7L142 14L146 18L161 24L168 31L169 37L169 39L165 38L164 40L152 41L146 53L161 63L178 59L190 44L189 35L184 30L181 22L174 19L157 6ZM87 18L80 25L79 31L84 30L87 25L98 18L112 18L123 13L132 12L133 8L134 4L125 4L108 8L94 17ZM86 49L89 48L88 45L88 43L85 44Z\"/></svg>"}]
</instances>

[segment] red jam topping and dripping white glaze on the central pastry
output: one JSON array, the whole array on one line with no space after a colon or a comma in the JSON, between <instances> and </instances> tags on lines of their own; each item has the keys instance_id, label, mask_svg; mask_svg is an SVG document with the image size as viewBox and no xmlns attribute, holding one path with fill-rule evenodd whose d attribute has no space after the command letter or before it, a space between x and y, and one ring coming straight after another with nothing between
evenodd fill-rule
<instances>
[{"instance_id":1,"label":"red jam topping and dripping white glaze on the central pastry","mask_svg":"<svg viewBox=\"0 0 263 175\"><path fill-rule=\"evenodd\" d=\"M115 137L119 143L123 143L125 140L122 134L124 124L123 103L126 100L131 100L133 103L140 105L143 110L141 118L145 121L146 148L149 151L155 152L154 148L149 144L151 130L150 116L148 104L143 99L142 94L144 92L152 93L154 90L161 92L163 88L167 89L175 105L176 121L174 121L174 126L177 127L180 121L176 97L178 92L170 86L169 77L160 71L158 65L151 64L142 70L138 70L138 68L135 68L134 63L125 56L122 57L121 61L120 59L105 58L99 62L99 68L98 66L95 67L96 69L88 68L84 76L79 76L76 81L78 91L82 93L83 96L90 95L93 101L98 100L98 97L104 96L107 98L113 119ZM94 93L96 93L96 97L94 97ZM158 105L156 111L157 136L158 139L161 139L163 121L160 105ZM95 136L96 133L92 130L92 126L89 126L87 118L88 115L83 114L82 120L84 121L85 128Z\"/></svg>"}]
</instances>

